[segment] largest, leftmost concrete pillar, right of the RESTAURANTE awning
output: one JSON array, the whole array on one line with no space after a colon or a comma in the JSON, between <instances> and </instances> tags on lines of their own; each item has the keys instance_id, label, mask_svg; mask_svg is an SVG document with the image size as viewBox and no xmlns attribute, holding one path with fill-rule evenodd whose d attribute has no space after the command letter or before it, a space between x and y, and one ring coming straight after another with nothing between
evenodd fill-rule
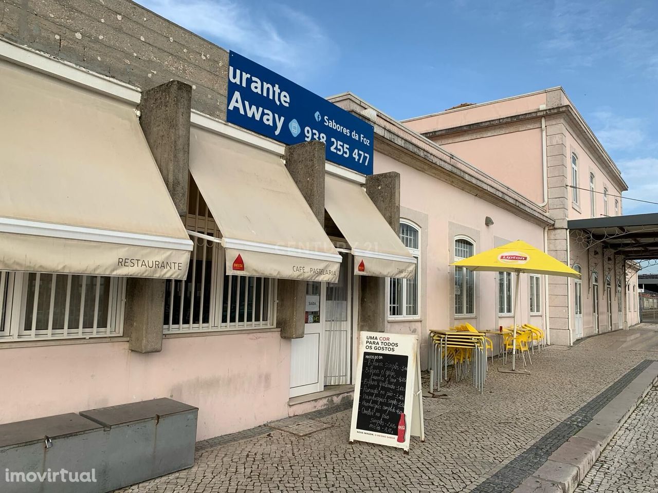
<instances>
[{"instance_id":1,"label":"largest, leftmost concrete pillar, right of the RESTAURANTE awning","mask_svg":"<svg viewBox=\"0 0 658 493\"><path fill-rule=\"evenodd\" d=\"M190 85L176 80L144 91L139 105L139 124L180 216L188 210L190 107ZM165 283L128 279L124 335L130 337L130 350L162 350Z\"/></svg>"}]
</instances>

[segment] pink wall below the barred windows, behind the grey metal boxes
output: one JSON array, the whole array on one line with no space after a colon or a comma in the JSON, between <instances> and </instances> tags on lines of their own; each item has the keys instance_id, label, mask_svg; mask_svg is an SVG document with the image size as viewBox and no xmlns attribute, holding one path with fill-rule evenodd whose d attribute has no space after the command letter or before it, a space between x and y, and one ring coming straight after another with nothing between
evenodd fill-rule
<instances>
[{"instance_id":1,"label":"pink wall below the barred windows, behind the grey metal boxes","mask_svg":"<svg viewBox=\"0 0 658 493\"><path fill-rule=\"evenodd\" d=\"M0 423L169 397L199 408L197 440L288 416L290 341L278 332L1 348Z\"/></svg>"}]
</instances>

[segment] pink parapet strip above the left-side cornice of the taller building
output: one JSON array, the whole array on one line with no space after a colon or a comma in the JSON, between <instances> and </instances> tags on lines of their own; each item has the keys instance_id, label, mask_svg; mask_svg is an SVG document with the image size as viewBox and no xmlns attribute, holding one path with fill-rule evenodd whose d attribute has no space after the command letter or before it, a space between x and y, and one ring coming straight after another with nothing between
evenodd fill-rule
<instances>
[{"instance_id":1,"label":"pink parapet strip above the left-side cornice of the taller building","mask_svg":"<svg viewBox=\"0 0 658 493\"><path fill-rule=\"evenodd\" d=\"M445 111L439 114L421 117L417 120L407 120L402 123L419 133L423 133L537 111L540 105L545 104L546 93L542 91L537 94L515 97L504 101L466 106L465 108Z\"/></svg>"}]
</instances>

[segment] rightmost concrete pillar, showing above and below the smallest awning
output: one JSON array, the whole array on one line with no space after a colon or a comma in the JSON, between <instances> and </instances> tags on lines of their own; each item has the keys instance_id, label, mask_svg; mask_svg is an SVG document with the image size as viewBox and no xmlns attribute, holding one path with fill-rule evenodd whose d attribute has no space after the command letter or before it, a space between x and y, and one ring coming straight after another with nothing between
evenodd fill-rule
<instances>
[{"instance_id":1,"label":"rightmost concrete pillar, showing above and below the smallest awning","mask_svg":"<svg viewBox=\"0 0 658 493\"><path fill-rule=\"evenodd\" d=\"M366 177L366 193L397 234L400 228L399 173ZM359 277L359 330L383 332L386 327L386 277Z\"/></svg>"}]
</instances>

